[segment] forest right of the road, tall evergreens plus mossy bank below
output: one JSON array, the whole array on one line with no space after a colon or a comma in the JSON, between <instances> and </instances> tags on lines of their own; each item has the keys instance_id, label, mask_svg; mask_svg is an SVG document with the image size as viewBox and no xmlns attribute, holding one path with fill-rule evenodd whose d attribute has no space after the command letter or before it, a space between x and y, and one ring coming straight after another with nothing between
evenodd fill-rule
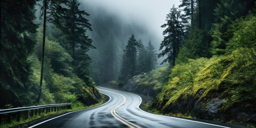
<instances>
[{"instance_id":1,"label":"forest right of the road, tall evergreens plus mossy bank below","mask_svg":"<svg viewBox=\"0 0 256 128\"><path fill-rule=\"evenodd\" d=\"M151 95L145 108L153 113L255 123L255 14L255 1L182 0L161 26L158 58L169 66L142 74L121 70L126 84L109 84Z\"/></svg>"}]
</instances>

